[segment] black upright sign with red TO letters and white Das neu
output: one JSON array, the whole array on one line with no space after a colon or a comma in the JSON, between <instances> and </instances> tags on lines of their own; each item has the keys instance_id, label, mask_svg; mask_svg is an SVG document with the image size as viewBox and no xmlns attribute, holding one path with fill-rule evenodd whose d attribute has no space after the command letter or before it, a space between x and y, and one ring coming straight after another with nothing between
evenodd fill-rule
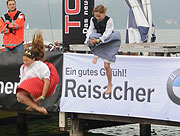
<instances>
[{"instance_id":1,"label":"black upright sign with red TO letters and white Das neu","mask_svg":"<svg viewBox=\"0 0 180 136\"><path fill-rule=\"evenodd\" d=\"M63 46L82 44L89 27L94 0L63 0Z\"/></svg>"}]
</instances>

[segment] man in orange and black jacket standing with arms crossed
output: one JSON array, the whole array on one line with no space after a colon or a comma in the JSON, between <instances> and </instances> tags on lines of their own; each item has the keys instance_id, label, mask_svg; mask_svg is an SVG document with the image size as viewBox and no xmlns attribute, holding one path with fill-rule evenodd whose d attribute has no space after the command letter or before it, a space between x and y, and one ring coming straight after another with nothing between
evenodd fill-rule
<instances>
[{"instance_id":1,"label":"man in orange and black jacket standing with arms crossed","mask_svg":"<svg viewBox=\"0 0 180 136\"><path fill-rule=\"evenodd\" d=\"M8 13L0 18L0 32L6 51L24 51L25 15L16 9L15 0L7 0Z\"/></svg>"}]
</instances>

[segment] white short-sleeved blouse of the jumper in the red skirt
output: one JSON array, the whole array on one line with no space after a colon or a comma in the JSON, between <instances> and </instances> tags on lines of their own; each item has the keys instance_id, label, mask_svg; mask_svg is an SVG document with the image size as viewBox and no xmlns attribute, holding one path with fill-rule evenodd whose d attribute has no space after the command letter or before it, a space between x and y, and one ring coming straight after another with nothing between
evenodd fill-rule
<instances>
[{"instance_id":1,"label":"white short-sleeved blouse of the jumper in the red skirt","mask_svg":"<svg viewBox=\"0 0 180 136\"><path fill-rule=\"evenodd\" d=\"M50 79L49 67L42 61L35 61L29 67L23 64L20 68L20 83L33 77Z\"/></svg>"}]
</instances>

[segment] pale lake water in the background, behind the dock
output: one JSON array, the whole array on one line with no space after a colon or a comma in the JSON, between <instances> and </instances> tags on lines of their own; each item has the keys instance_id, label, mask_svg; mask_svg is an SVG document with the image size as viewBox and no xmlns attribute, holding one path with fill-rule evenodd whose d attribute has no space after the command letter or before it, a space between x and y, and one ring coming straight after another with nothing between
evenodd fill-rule
<instances>
[{"instance_id":1,"label":"pale lake water in the background, behind the dock","mask_svg":"<svg viewBox=\"0 0 180 136\"><path fill-rule=\"evenodd\" d=\"M32 37L36 29L25 30L25 42L32 41ZM62 42L61 29L43 29L44 41L46 43L53 41ZM125 30L117 30L121 33L122 43L125 43ZM180 43L180 29L157 29L156 30L156 43ZM2 34L0 34L0 45L2 45Z\"/></svg>"}]
</instances>

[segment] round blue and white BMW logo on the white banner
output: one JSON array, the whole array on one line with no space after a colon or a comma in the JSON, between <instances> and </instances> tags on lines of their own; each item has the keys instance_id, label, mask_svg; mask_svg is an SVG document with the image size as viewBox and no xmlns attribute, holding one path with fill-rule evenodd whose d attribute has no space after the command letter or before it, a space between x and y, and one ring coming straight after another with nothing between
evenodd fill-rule
<instances>
[{"instance_id":1,"label":"round blue and white BMW logo on the white banner","mask_svg":"<svg viewBox=\"0 0 180 136\"><path fill-rule=\"evenodd\" d=\"M169 76L167 82L167 93L169 98L175 104L180 105L180 69L175 70Z\"/></svg>"}]
</instances>

